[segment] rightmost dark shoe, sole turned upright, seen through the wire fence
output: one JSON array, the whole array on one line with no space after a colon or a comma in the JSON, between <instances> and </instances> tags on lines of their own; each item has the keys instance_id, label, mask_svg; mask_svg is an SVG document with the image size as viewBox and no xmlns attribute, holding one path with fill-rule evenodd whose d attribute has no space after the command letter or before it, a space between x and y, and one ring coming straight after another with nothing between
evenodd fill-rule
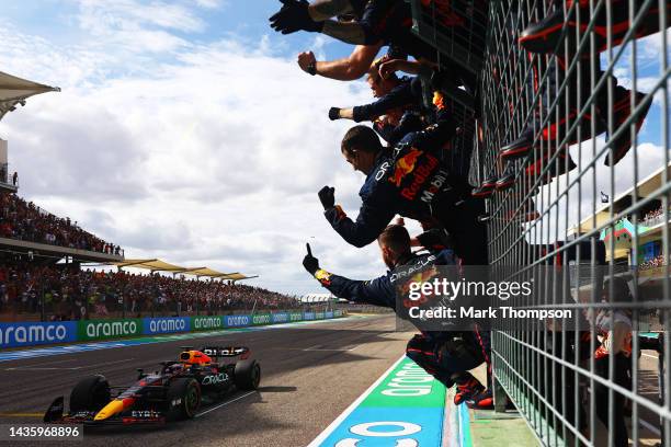
<instances>
[{"instance_id":1,"label":"rightmost dark shoe, sole turned upright, seen through the wire fence","mask_svg":"<svg viewBox=\"0 0 671 447\"><path fill-rule=\"evenodd\" d=\"M634 108L636 108L646 98L645 93L636 92L636 102L634 104ZM651 101L648 101L644 108L640 111L634 124L636 126L636 134L642 127L644 122L646 121L646 115L650 110ZM622 127L622 125L632 115L632 91L627 90L623 87L617 87L615 89L615 104L613 105L613 112L615 114L615 131ZM629 127L629 126L627 126ZM613 141L612 150L609 151L604 164L606 167L613 167L617 164L619 160L622 160L629 149L632 148L632 129L627 128L625 131L621 133L621 135ZM613 159L611 159L613 157Z\"/></svg>"}]
</instances>

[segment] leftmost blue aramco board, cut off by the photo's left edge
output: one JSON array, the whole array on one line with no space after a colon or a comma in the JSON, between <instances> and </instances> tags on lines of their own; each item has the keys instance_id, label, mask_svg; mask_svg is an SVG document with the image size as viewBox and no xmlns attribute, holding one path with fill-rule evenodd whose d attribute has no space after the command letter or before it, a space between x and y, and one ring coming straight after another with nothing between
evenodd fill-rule
<instances>
[{"instance_id":1,"label":"leftmost blue aramco board, cut off by the photo's left edge","mask_svg":"<svg viewBox=\"0 0 671 447\"><path fill-rule=\"evenodd\" d=\"M76 340L76 321L0 323L0 348L68 343Z\"/></svg>"}]
</instances>

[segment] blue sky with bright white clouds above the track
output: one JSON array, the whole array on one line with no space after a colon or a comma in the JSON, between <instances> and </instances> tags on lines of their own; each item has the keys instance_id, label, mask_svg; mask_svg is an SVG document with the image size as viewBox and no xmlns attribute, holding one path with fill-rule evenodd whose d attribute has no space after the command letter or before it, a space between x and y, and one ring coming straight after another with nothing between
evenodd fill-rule
<instances>
[{"instance_id":1,"label":"blue sky with bright white clouds above the track","mask_svg":"<svg viewBox=\"0 0 671 447\"><path fill-rule=\"evenodd\" d=\"M252 284L305 294L321 291L300 265L310 242L331 271L378 275L375 244L344 243L316 195L336 185L338 202L355 214L363 176L339 153L350 123L327 112L368 101L369 91L300 71L300 50L332 59L351 47L275 34L268 16L277 8L276 0L0 2L0 71L61 88L0 123L20 195L122 245L127 257L260 275ZM653 79L659 56L644 48ZM627 82L626 71L619 76ZM641 133L647 171L662 160L659 101L655 107L657 122ZM630 179L632 162L622 165ZM630 185L622 175L618 187Z\"/></svg>"}]
</instances>

